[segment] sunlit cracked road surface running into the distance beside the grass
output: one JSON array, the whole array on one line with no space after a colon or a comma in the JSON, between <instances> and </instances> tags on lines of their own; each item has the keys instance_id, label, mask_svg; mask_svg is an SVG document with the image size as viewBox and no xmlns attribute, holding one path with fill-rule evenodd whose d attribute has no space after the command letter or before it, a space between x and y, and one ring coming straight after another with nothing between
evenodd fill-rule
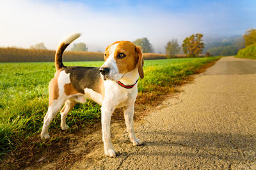
<instances>
[{"instance_id":1,"label":"sunlit cracked road surface running into the distance beside the grass","mask_svg":"<svg viewBox=\"0 0 256 170\"><path fill-rule=\"evenodd\" d=\"M223 57L182 91L136 122L143 146L113 124L118 157L104 156L99 130L71 147L83 153L95 143L68 169L256 169L256 60Z\"/></svg>"}]
</instances>

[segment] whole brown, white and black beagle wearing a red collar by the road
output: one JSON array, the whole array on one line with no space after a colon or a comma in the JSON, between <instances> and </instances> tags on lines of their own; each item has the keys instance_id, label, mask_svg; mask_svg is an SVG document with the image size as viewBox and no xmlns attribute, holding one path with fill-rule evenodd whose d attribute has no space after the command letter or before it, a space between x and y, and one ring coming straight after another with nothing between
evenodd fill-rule
<instances>
[{"instance_id":1,"label":"whole brown, white and black beagle wearing a red collar by the road","mask_svg":"<svg viewBox=\"0 0 256 170\"><path fill-rule=\"evenodd\" d=\"M101 67L66 67L62 54L80 34L73 34L58 46L55 54L56 73L49 83L49 108L44 117L41 138L50 138L49 125L61 107L61 129L68 129L66 118L74 105L92 99L101 105L102 139L105 155L116 157L110 139L110 120L115 108L124 108L125 124L134 146L141 145L134 135L134 103L137 81L143 78L143 57L140 46L130 41L116 41L106 48Z\"/></svg>"}]
</instances>

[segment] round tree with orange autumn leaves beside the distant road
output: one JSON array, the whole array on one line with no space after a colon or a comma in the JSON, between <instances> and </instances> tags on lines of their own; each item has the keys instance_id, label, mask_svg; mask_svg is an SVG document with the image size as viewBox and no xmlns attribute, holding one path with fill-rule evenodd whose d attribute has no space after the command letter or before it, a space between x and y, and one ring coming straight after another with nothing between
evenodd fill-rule
<instances>
[{"instance_id":1,"label":"round tree with orange autumn leaves beside the distant road","mask_svg":"<svg viewBox=\"0 0 256 170\"><path fill-rule=\"evenodd\" d=\"M182 48L183 52L188 57L196 57L204 50L204 43L202 42L203 34L192 34L189 38L183 40Z\"/></svg>"}]
</instances>

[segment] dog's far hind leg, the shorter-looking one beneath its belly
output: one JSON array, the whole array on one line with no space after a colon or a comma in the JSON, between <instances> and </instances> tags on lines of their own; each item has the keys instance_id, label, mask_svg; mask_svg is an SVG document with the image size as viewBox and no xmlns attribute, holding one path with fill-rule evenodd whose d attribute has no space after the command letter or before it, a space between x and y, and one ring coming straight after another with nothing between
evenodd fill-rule
<instances>
[{"instance_id":1,"label":"dog's far hind leg, the shorter-looking one beneath its belly","mask_svg":"<svg viewBox=\"0 0 256 170\"><path fill-rule=\"evenodd\" d=\"M76 101L74 101L73 99L68 99L65 102L65 105L63 106L62 110L60 111L60 114L61 114L60 126L62 130L68 129L68 125L66 124L66 118L67 118L68 112L71 111L75 105L76 105Z\"/></svg>"}]
</instances>

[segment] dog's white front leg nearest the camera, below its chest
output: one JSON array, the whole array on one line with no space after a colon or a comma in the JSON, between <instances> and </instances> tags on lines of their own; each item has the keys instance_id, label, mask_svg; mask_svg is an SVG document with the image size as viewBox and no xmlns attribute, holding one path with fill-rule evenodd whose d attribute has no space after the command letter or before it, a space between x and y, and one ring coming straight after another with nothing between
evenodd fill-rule
<instances>
[{"instance_id":1,"label":"dog's white front leg nearest the camera, below its chest","mask_svg":"<svg viewBox=\"0 0 256 170\"><path fill-rule=\"evenodd\" d=\"M109 106L108 104L102 104L101 107L101 125L102 125L102 140L104 142L105 155L109 157L116 157L116 152L113 148L110 139L110 121L111 115L115 110L114 106Z\"/></svg>"}]
</instances>

